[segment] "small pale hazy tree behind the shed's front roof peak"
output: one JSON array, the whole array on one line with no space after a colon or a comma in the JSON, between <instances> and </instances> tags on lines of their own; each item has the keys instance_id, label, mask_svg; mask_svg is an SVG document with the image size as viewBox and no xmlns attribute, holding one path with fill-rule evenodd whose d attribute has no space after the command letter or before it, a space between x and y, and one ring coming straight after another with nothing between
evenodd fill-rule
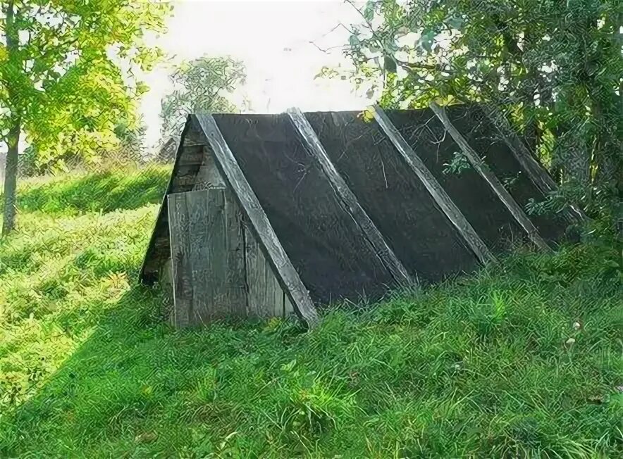
<instances>
[{"instance_id":1,"label":"small pale hazy tree behind the shed's front roof peak","mask_svg":"<svg viewBox=\"0 0 623 459\"><path fill-rule=\"evenodd\" d=\"M178 65L171 74L173 92L162 99L163 142L178 139L189 113L238 111L228 96L245 77L245 66L229 57L204 56Z\"/></svg>"}]
</instances>

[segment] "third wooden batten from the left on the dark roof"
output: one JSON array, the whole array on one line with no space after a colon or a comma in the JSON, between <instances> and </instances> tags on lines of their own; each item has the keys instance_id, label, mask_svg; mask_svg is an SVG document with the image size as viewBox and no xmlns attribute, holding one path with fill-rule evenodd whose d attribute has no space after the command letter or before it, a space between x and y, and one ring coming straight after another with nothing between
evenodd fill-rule
<instances>
[{"instance_id":1,"label":"third wooden batten from the left on the dark roof","mask_svg":"<svg viewBox=\"0 0 623 459\"><path fill-rule=\"evenodd\" d=\"M424 184L424 187L431 194L437 205L441 208L445 216L448 217L452 225L455 226L459 234L467 245L474 252L476 257L481 263L496 263L495 256L489 251L486 244L478 235L474 227L472 227L467 218L463 215L461 210L455 205L454 201L450 199L450 196L445 192L445 189L439 184L436 178L433 176L430 170L424 164L424 161L417 155L417 153L407 144L407 141L402 134L398 132L396 127L390 121L383 109L379 106L373 107L374 118L378 125L381 126L381 130L385 132L385 135L390 139L395 149L400 153L402 158L407 162L409 168L415 172L415 175Z\"/></svg>"}]
</instances>

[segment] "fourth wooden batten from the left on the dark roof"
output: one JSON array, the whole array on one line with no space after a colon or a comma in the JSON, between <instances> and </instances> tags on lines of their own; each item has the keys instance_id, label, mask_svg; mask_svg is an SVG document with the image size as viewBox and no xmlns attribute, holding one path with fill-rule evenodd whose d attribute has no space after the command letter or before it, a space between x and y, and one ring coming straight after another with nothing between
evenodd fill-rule
<instances>
[{"instance_id":1,"label":"fourth wooden batten from the left on the dark roof","mask_svg":"<svg viewBox=\"0 0 623 459\"><path fill-rule=\"evenodd\" d=\"M471 166L489 184L491 189L493 189L493 192L498 195L498 198L500 198L500 201L504 203L514 219L517 220L519 225L521 225L522 228L524 228L524 230L528 233L530 240L533 241L539 249L550 251L550 247L547 243L545 243L541 235L538 234L538 230L536 230L536 227L532 224L526 213L524 213L524 210L522 210L517 201L513 199L507 189L505 189L505 187L500 183L498 177L495 177L495 174L488 168L488 165L482 161L480 156L478 156L478 153L476 153L476 151L469 146L467 140L462 136L457 128L452 125L452 122L450 122L445 110L438 106L438 104L434 101L431 102L430 106L433 112L435 112L435 115L437 115L437 118L439 118L439 120L443 123L445 130L448 131L450 136L452 136L452 139L454 139L464 155L467 157L467 160L471 163Z\"/></svg>"}]
</instances>

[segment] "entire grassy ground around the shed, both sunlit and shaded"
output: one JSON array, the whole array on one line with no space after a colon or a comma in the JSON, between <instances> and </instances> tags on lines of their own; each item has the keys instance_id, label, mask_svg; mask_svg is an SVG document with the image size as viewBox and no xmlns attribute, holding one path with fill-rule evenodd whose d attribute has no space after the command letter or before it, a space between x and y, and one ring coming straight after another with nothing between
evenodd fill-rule
<instances>
[{"instance_id":1,"label":"entire grassy ground around the shed, both sunlit and shaded","mask_svg":"<svg viewBox=\"0 0 623 459\"><path fill-rule=\"evenodd\" d=\"M0 457L623 456L616 254L519 254L309 334L175 332L135 285L166 172L22 189L0 241Z\"/></svg>"}]
</instances>

